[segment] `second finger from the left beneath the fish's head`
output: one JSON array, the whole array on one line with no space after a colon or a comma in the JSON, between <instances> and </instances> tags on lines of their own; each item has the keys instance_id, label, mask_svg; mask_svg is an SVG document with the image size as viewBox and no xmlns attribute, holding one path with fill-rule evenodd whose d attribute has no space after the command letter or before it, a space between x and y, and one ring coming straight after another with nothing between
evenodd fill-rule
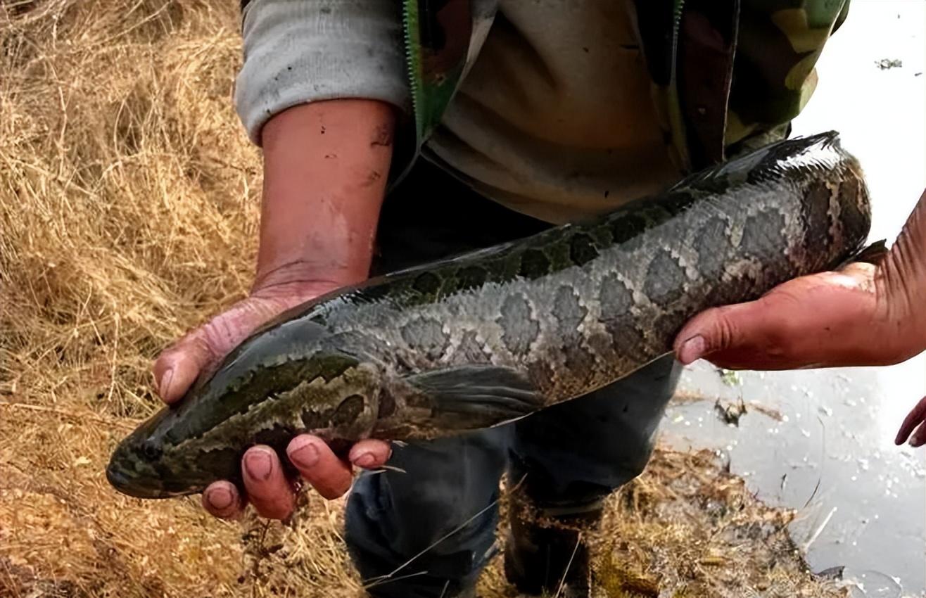
<instances>
[{"instance_id":1,"label":"second finger from the left beneath the fish's head","mask_svg":"<svg viewBox=\"0 0 926 598\"><path fill-rule=\"evenodd\" d=\"M285 519L293 513L293 488L283 475L280 458L269 446L253 446L242 457L244 490L257 513Z\"/></svg>"}]
</instances>

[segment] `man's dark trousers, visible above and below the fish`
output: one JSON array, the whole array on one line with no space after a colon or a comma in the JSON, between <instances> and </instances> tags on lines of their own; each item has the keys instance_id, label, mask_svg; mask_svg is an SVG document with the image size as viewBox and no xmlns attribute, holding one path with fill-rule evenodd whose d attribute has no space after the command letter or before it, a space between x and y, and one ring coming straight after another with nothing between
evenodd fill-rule
<instances>
[{"instance_id":1,"label":"man's dark trousers, visible above and below the fish","mask_svg":"<svg viewBox=\"0 0 926 598\"><path fill-rule=\"evenodd\" d=\"M423 160L387 197L380 222L374 273L549 226ZM399 569L369 593L438 598L471 587L494 555L494 501L506 471L534 505L560 512L588 508L635 478L652 455L679 373L669 356L503 427L395 446L389 465L404 472L361 474L347 502L346 542L362 578Z\"/></svg>"}]
</instances>

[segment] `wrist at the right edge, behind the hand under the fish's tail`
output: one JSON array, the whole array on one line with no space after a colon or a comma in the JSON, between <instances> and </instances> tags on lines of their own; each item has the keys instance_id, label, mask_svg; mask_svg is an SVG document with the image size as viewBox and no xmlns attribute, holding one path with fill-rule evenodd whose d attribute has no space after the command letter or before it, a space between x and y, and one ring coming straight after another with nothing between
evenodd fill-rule
<instances>
[{"instance_id":1,"label":"wrist at the right edge, behind the hand under the fish's tail","mask_svg":"<svg viewBox=\"0 0 926 598\"><path fill-rule=\"evenodd\" d=\"M878 268L875 284L884 319L904 354L926 349L926 192Z\"/></svg>"}]
</instances>

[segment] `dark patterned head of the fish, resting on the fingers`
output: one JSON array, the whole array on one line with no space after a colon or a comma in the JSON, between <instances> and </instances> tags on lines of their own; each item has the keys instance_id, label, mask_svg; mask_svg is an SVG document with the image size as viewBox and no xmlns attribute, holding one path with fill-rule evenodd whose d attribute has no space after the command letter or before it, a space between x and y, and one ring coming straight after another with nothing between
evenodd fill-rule
<instances>
[{"instance_id":1,"label":"dark patterned head of the fish, resting on the fingers","mask_svg":"<svg viewBox=\"0 0 926 598\"><path fill-rule=\"evenodd\" d=\"M214 371L125 437L106 479L137 498L203 492L210 483L241 485L241 458L256 444L285 459L295 435L356 442L376 424L381 362L369 340L293 318L260 330Z\"/></svg>"}]
</instances>

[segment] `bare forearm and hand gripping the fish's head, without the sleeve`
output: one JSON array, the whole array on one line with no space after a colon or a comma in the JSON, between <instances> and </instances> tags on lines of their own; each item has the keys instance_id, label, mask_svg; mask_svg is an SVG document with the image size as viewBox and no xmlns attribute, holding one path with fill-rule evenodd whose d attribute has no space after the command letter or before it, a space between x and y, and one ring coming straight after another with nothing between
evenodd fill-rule
<instances>
[{"instance_id":1,"label":"bare forearm and hand gripping the fish's head, without the sleeve","mask_svg":"<svg viewBox=\"0 0 926 598\"><path fill-rule=\"evenodd\" d=\"M270 318L367 278L393 131L392 106L376 101L316 102L269 118L261 131L264 187L253 290L158 357L155 377L165 402L177 401L200 371ZM344 460L307 434L296 436L286 449L301 477L327 499L347 492L353 466L380 467L389 455L386 442L362 441ZM244 454L242 478L244 488L229 481L206 488L206 510L236 517L250 502L262 517L292 514L294 484L269 447L254 446Z\"/></svg>"}]
</instances>

